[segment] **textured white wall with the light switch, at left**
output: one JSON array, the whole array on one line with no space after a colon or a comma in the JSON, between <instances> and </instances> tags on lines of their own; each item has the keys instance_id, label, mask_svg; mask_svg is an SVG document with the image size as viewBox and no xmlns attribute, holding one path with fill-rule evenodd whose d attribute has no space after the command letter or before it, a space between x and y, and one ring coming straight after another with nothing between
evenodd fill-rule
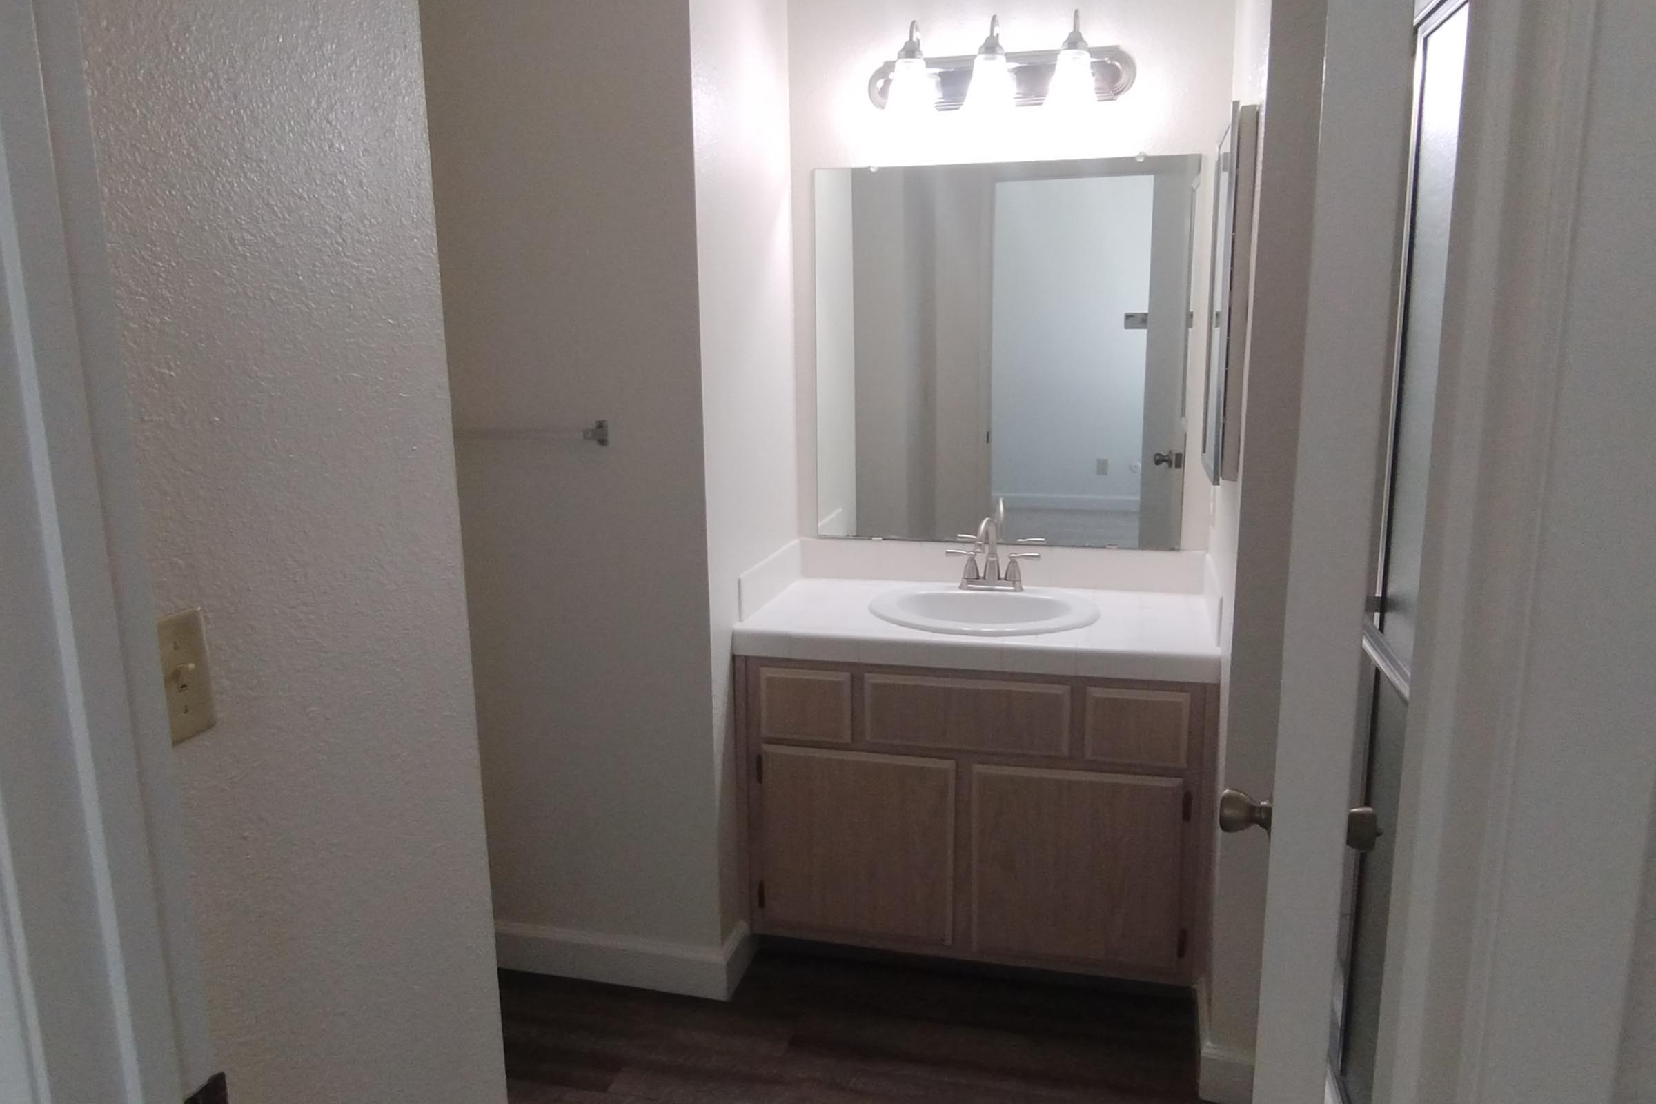
<instances>
[{"instance_id":1,"label":"textured white wall with the light switch, at left","mask_svg":"<svg viewBox=\"0 0 1656 1104\"><path fill-rule=\"evenodd\" d=\"M232 1092L502 1101L414 10L79 12Z\"/></svg>"}]
</instances>

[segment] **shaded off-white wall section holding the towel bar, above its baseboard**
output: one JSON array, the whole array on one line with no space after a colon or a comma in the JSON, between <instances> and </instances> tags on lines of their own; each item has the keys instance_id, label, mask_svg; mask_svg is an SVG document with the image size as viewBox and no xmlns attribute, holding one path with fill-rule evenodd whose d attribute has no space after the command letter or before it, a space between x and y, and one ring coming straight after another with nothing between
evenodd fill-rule
<instances>
[{"instance_id":1,"label":"shaded off-white wall section holding the towel bar, above its baseboard","mask_svg":"<svg viewBox=\"0 0 1656 1104\"><path fill-rule=\"evenodd\" d=\"M548 953L705 950L689 10L429 0L422 18L455 422L614 434L459 450L495 919Z\"/></svg>"}]
</instances>

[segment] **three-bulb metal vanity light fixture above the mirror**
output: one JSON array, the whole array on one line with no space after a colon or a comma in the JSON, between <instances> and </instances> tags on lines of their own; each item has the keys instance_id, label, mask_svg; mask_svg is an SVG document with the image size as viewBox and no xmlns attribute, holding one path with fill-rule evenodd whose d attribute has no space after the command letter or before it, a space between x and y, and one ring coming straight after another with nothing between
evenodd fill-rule
<instances>
[{"instance_id":1,"label":"three-bulb metal vanity light fixture above the mirror","mask_svg":"<svg viewBox=\"0 0 1656 1104\"><path fill-rule=\"evenodd\" d=\"M1121 46L1086 45L1080 12L1060 50L1007 53L1000 45L1000 20L994 18L975 55L951 58L926 58L919 23L909 23L909 40L896 60L868 78L868 99L883 111L912 118L921 118L922 111L959 111L967 104L977 114L979 101L992 114L1002 98L1018 108L1053 99L1075 108L1116 99L1133 88L1134 76L1133 58Z\"/></svg>"}]
</instances>

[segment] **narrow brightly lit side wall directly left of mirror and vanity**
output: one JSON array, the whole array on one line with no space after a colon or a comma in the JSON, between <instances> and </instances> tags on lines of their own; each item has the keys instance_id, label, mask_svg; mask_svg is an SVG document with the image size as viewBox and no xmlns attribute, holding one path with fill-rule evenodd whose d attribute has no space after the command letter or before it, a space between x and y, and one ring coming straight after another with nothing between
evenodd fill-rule
<instances>
[{"instance_id":1,"label":"narrow brightly lit side wall directly left of mirror and vanity","mask_svg":"<svg viewBox=\"0 0 1656 1104\"><path fill-rule=\"evenodd\" d=\"M729 932L744 892L729 742L735 581L798 533L788 7L785 0L691 0L689 8L712 761L720 768L720 927Z\"/></svg>"}]
</instances>

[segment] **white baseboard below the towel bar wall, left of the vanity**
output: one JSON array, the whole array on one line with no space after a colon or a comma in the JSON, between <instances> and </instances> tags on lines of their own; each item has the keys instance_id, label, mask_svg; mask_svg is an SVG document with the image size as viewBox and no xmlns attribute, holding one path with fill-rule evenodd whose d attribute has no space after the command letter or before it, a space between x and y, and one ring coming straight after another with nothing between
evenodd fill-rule
<instances>
[{"instance_id":1,"label":"white baseboard below the towel bar wall, left of the vanity","mask_svg":"<svg viewBox=\"0 0 1656 1104\"><path fill-rule=\"evenodd\" d=\"M699 947L500 920L495 958L502 970L730 1000L753 960L753 937L737 924L722 947Z\"/></svg>"}]
</instances>

